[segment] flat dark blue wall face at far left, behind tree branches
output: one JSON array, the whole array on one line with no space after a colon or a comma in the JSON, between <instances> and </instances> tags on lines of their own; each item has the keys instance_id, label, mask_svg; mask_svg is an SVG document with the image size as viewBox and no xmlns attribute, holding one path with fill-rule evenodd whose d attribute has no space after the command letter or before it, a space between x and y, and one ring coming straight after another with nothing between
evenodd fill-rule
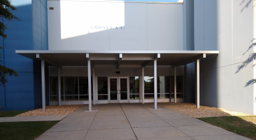
<instances>
[{"instance_id":1,"label":"flat dark blue wall face at far left, behind tree branches","mask_svg":"<svg viewBox=\"0 0 256 140\"><path fill-rule=\"evenodd\" d=\"M5 84L6 110L34 109L33 61L15 54L15 50L33 50L31 0L12 0L17 8L11 11L21 21L3 19L7 26L3 40L4 66L18 72L18 77L8 76Z\"/></svg>"}]
</instances>

